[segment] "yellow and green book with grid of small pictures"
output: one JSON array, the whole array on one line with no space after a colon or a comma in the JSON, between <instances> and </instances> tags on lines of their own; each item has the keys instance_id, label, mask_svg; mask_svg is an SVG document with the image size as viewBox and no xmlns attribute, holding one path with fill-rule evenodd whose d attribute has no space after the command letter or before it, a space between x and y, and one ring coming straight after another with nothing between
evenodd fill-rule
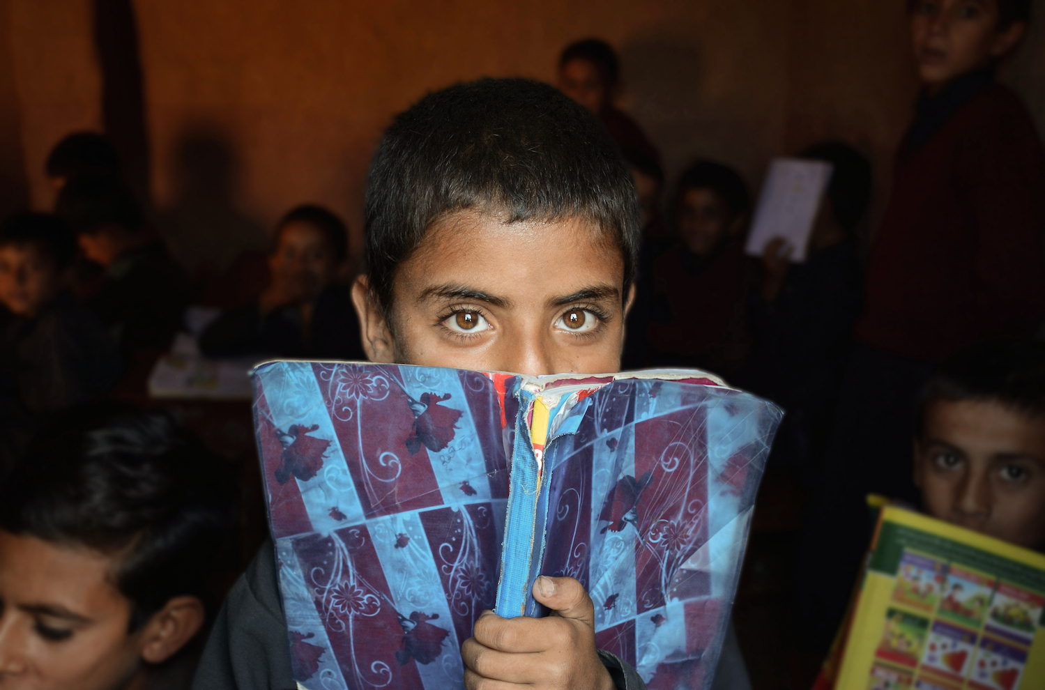
<instances>
[{"instance_id":1,"label":"yellow and green book with grid of small pictures","mask_svg":"<svg viewBox=\"0 0 1045 690\"><path fill-rule=\"evenodd\" d=\"M882 509L836 688L1045 688L1045 555Z\"/></svg>"}]
</instances>

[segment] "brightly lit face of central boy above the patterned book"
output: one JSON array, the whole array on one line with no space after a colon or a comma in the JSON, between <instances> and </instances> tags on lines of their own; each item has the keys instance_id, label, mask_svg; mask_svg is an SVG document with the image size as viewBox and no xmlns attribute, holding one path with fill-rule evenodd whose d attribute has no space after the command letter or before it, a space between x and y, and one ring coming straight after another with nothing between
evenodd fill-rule
<instances>
[{"instance_id":1,"label":"brightly lit face of central boy above the patterned book","mask_svg":"<svg viewBox=\"0 0 1045 690\"><path fill-rule=\"evenodd\" d=\"M400 264L391 329L367 298L365 277L353 298L375 362L614 372L624 346L623 277L621 251L582 221L508 225L464 211L435 224Z\"/></svg>"}]
</instances>

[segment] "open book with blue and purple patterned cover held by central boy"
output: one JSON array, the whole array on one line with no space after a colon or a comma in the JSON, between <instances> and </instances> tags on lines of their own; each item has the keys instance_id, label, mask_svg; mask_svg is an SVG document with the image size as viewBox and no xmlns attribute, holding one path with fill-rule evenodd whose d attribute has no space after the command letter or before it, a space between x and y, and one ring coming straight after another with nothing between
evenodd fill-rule
<instances>
[{"instance_id":1,"label":"open book with blue and purple patterned cover held by central boy","mask_svg":"<svg viewBox=\"0 0 1045 690\"><path fill-rule=\"evenodd\" d=\"M305 688L460 688L480 613L575 577L651 688L707 687L782 412L697 371L542 376L323 362L253 375Z\"/></svg>"}]
</instances>

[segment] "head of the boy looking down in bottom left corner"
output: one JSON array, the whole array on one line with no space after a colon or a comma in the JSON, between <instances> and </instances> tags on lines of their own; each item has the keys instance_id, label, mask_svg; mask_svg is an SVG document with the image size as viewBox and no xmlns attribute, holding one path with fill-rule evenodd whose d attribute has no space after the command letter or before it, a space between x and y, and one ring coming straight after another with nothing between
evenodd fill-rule
<instances>
[{"instance_id":1,"label":"head of the boy looking down in bottom left corner","mask_svg":"<svg viewBox=\"0 0 1045 690\"><path fill-rule=\"evenodd\" d=\"M80 408L42 431L0 485L0 687L188 688L235 496L169 416Z\"/></svg>"}]
</instances>

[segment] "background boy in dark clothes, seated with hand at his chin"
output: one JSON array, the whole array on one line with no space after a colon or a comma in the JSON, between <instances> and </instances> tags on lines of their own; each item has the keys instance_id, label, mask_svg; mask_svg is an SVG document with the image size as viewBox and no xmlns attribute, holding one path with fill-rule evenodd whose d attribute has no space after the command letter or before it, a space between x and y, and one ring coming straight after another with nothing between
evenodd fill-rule
<instances>
[{"instance_id":1,"label":"background boy in dark clothes, seated with hand at his chin","mask_svg":"<svg viewBox=\"0 0 1045 690\"><path fill-rule=\"evenodd\" d=\"M321 206L291 210L276 228L269 285L250 304L218 317L200 348L213 356L366 359L351 290L335 282L347 260L341 218Z\"/></svg>"}]
</instances>

